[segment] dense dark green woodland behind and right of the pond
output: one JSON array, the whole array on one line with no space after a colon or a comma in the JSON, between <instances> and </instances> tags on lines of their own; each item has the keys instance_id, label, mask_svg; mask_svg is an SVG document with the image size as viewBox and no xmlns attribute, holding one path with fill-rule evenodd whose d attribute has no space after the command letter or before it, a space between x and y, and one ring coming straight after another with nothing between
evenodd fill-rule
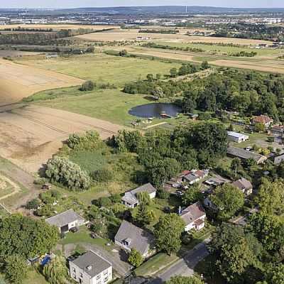
<instances>
[{"instance_id":1,"label":"dense dark green woodland behind and right of the pond","mask_svg":"<svg viewBox=\"0 0 284 284\"><path fill-rule=\"evenodd\" d=\"M182 65L173 77L197 72L196 65ZM284 121L284 77L251 71L224 70L194 80L139 80L126 84L124 92L151 94L157 98L182 96L185 112L240 111L251 116L267 114Z\"/></svg>"}]
</instances>

